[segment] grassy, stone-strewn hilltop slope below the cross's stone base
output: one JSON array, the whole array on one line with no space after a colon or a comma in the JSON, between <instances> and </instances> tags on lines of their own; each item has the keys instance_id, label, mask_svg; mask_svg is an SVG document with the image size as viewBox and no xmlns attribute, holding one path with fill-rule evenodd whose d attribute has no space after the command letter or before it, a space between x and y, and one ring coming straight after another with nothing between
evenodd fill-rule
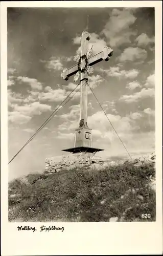
<instances>
[{"instance_id":1,"label":"grassy, stone-strewn hilltop slope below the cross's stone base","mask_svg":"<svg viewBox=\"0 0 163 256\"><path fill-rule=\"evenodd\" d=\"M155 154L9 183L9 221L155 221Z\"/></svg>"}]
</instances>

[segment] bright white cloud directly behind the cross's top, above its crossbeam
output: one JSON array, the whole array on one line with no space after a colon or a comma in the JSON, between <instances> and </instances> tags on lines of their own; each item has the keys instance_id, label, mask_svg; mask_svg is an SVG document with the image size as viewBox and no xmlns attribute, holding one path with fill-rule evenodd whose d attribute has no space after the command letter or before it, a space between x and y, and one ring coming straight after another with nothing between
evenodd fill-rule
<instances>
[{"instance_id":1,"label":"bright white cloud directly behind the cross's top, above its crossbeam","mask_svg":"<svg viewBox=\"0 0 163 256\"><path fill-rule=\"evenodd\" d=\"M76 38L73 39L74 44L80 45L80 36L77 36ZM92 46L92 55L99 53L103 50L104 46L106 46L106 42L104 39L101 39L99 35L96 33L90 33L90 40L88 42L88 49L90 49ZM77 54L81 54L81 46L77 50Z\"/></svg>"}]
</instances>

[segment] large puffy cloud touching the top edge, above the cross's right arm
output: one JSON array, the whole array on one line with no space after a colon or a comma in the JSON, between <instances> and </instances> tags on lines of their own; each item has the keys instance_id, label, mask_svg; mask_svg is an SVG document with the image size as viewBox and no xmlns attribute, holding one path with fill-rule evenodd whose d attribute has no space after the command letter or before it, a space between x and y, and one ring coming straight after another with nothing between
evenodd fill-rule
<instances>
[{"instance_id":1,"label":"large puffy cloud touching the top edge, above the cross's right arm","mask_svg":"<svg viewBox=\"0 0 163 256\"><path fill-rule=\"evenodd\" d=\"M131 36L137 34L136 31L130 28L136 20L133 12L134 10L129 8L112 10L109 20L102 31L108 39L109 46L117 47L130 43Z\"/></svg>"}]
</instances>

